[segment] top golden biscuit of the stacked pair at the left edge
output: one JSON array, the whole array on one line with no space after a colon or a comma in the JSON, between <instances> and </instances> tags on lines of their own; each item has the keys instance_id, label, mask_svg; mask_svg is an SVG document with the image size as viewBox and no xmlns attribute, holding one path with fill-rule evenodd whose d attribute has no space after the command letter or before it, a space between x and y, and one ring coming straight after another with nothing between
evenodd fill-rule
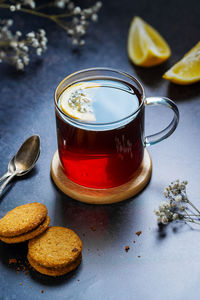
<instances>
[{"instance_id":1,"label":"top golden biscuit of the stacked pair at the left edge","mask_svg":"<svg viewBox=\"0 0 200 300\"><path fill-rule=\"evenodd\" d=\"M0 220L0 236L16 237L39 226L47 216L44 204L33 202L18 206Z\"/></svg>"}]
</instances>

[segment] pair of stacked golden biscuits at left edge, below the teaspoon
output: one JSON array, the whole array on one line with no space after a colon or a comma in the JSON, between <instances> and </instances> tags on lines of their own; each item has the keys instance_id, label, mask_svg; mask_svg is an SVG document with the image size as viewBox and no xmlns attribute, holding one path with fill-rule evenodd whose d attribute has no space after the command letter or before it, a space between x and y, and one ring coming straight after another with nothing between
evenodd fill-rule
<instances>
[{"instance_id":1,"label":"pair of stacked golden biscuits at left edge, below the teaspoon","mask_svg":"<svg viewBox=\"0 0 200 300\"><path fill-rule=\"evenodd\" d=\"M25 242L44 232L49 223L44 204L18 206L0 220L0 240L8 244Z\"/></svg>"}]
</instances>

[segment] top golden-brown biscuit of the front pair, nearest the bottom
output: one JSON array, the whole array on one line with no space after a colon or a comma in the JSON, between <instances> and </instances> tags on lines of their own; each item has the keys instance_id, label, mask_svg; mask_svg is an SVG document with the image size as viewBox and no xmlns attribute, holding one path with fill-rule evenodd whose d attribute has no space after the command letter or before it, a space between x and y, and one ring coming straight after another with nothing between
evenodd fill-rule
<instances>
[{"instance_id":1,"label":"top golden-brown biscuit of the front pair, nearest the bottom","mask_svg":"<svg viewBox=\"0 0 200 300\"><path fill-rule=\"evenodd\" d=\"M28 256L46 268L64 268L81 254L82 242L71 229L49 227L43 234L28 243Z\"/></svg>"}]
</instances>

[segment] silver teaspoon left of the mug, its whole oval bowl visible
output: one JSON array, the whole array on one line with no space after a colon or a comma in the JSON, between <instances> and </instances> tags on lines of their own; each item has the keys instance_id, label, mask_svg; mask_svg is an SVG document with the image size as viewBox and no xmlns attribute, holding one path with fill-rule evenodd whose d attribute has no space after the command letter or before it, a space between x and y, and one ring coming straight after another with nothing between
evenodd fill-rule
<instances>
[{"instance_id":1,"label":"silver teaspoon left of the mug, its whole oval bowl visible","mask_svg":"<svg viewBox=\"0 0 200 300\"><path fill-rule=\"evenodd\" d=\"M0 195L7 184L15 176L22 176L28 173L35 166L40 155L40 137L33 135L29 137L19 148L14 156L14 171L0 186Z\"/></svg>"}]
</instances>

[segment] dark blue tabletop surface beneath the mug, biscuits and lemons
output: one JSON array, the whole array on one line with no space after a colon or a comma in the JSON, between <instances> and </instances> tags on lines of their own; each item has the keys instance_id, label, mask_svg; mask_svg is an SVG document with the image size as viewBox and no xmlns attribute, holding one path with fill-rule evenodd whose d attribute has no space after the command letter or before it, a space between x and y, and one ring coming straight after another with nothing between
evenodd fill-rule
<instances>
[{"instance_id":1,"label":"dark blue tabletop surface beneath the mug, biscuits and lemons","mask_svg":"<svg viewBox=\"0 0 200 300\"><path fill-rule=\"evenodd\" d=\"M1 15L7 13L1 10ZM142 69L130 63L126 41L134 15L157 28L170 44L172 56L161 66ZM69 227L80 235L83 261L75 272L58 279L31 271L26 275L8 262L10 258L23 261L27 245L0 243L0 299L198 299L200 231L175 224L159 231L153 210L163 201L164 187L177 178L189 181L189 198L200 207L200 85L178 86L162 79L199 41L199 0L104 1L99 22L89 29L80 51L73 51L65 32L47 20L19 13L16 29L30 20L27 31L47 30L48 50L22 73L0 65L0 173L6 171L21 142L34 133L41 137L41 155L36 168L13 181L1 197L0 213L29 202L44 203L52 225ZM175 133L148 149L153 173L147 188L133 199L108 206L72 200L56 189L50 177L57 149L54 90L68 74L95 66L135 75L147 96L169 97L180 110ZM149 108L146 132L163 128L170 117L166 110Z\"/></svg>"}]
</instances>

